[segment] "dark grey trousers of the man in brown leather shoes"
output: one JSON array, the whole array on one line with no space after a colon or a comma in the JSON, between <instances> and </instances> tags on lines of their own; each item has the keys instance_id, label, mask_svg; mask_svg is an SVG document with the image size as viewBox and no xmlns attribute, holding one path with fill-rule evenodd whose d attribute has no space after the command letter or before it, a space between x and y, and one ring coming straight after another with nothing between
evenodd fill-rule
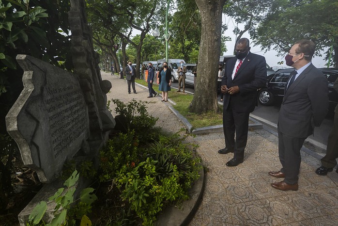
<instances>
[{"instance_id":1,"label":"dark grey trousers of the man in brown leather shoes","mask_svg":"<svg viewBox=\"0 0 338 226\"><path fill-rule=\"evenodd\" d=\"M283 134L278 129L278 154L282 164L281 172L285 174L284 182L296 184L301 162L300 149L305 138L291 137Z\"/></svg>"}]
</instances>

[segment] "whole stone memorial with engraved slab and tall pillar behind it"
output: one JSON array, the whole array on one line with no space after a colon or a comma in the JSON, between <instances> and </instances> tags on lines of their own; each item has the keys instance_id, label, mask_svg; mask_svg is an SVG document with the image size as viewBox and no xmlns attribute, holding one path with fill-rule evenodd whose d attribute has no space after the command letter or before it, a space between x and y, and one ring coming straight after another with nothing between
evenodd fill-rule
<instances>
[{"instance_id":1,"label":"whole stone memorial with engraved slab and tall pillar behind it","mask_svg":"<svg viewBox=\"0 0 338 226\"><path fill-rule=\"evenodd\" d=\"M54 185L53 181L61 174L64 162L80 158L97 163L95 157L115 127L107 109L106 94L111 83L101 78L99 55L93 49L92 32L85 16L85 1L70 0L70 3L74 73L31 56L16 57L24 70L24 89L6 116L7 131L17 143L23 163L46 183L19 214L21 225L25 225L37 202L46 200L60 187L60 181Z\"/></svg>"}]
</instances>

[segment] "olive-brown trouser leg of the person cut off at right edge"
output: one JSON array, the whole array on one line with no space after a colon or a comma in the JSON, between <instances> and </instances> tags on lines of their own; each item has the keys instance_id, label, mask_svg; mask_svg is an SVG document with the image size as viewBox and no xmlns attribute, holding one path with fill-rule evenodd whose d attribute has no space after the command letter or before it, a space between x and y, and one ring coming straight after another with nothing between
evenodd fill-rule
<instances>
[{"instance_id":1,"label":"olive-brown trouser leg of the person cut off at right edge","mask_svg":"<svg viewBox=\"0 0 338 226\"><path fill-rule=\"evenodd\" d=\"M322 165L326 168L333 168L338 158L338 113L335 113L333 128L327 139L326 155L321 159Z\"/></svg>"}]
</instances>

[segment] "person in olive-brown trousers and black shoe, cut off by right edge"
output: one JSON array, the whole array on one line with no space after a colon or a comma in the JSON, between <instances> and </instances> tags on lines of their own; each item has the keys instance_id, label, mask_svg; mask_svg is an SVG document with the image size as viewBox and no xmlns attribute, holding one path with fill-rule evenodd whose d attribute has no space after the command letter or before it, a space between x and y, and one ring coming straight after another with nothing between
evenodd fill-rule
<instances>
[{"instance_id":1,"label":"person in olive-brown trousers and black shoe, cut off by right edge","mask_svg":"<svg viewBox=\"0 0 338 226\"><path fill-rule=\"evenodd\" d=\"M333 84L333 88L338 93L338 78ZM327 139L326 155L321 159L322 166L316 170L316 174L325 176L327 172L332 172L336 166L338 158L338 105L335 108L335 116L333 119L333 128ZM338 169L336 170L338 173Z\"/></svg>"}]
</instances>

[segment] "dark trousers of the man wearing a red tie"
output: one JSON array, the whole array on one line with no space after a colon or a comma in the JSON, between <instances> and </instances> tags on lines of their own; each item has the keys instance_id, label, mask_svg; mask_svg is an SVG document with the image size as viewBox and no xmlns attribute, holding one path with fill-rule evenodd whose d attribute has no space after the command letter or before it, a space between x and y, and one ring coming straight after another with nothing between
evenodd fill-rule
<instances>
[{"instance_id":1,"label":"dark trousers of the man wearing a red tie","mask_svg":"<svg viewBox=\"0 0 338 226\"><path fill-rule=\"evenodd\" d=\"M231 105L229 105L228 109L223 110L225 146L230 150L234 150L234 158L237 160L244 159L244 149L246 148L249 127L249 114L249 112L233 112Z\"/></svg>"}]
</instances>

